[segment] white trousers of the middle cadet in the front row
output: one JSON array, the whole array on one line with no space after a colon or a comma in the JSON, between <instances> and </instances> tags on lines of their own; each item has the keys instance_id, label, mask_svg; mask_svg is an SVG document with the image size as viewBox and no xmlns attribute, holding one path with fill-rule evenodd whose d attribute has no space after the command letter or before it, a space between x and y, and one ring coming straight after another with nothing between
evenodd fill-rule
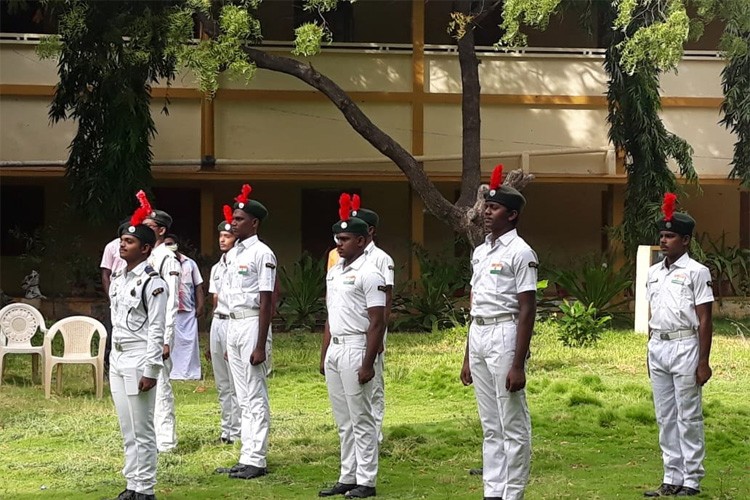
<instances>
[{"instance_id":1,"label":"white trousers of the middle cadet in the front row","mask_svg":"<svg viewBox=\"0 0 750 500\"><path fill-rule=\"evenodd\" d=\"M328 397L341 442L339 482L374 487L378 475L378 430L372 408L374 382L360 384L357 377L367 339L366 335L342 338L343 344L331 342L325 359Z\"/></svg>"}]
</instances>

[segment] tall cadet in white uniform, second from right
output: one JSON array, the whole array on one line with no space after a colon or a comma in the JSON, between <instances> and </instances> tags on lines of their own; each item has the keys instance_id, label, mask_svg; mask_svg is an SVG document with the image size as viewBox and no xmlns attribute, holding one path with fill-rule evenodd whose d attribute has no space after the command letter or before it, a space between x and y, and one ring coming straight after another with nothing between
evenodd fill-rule
<instances>
[{"instance_id":1,"label":"tall cadet in white uniform, second from right","mask_svg":"<svg viewBox=\"0 0 750 500\"><path fill-rule=\"evenodd\" d=\"M536 314L538 261L518 236L526 200L501 186L498 166L485 195L485 242L474 250L471 315L461 381L474 384L482 423L484 498L524 497L531 462L526 358Z\"/></svg>"}]
</instances>

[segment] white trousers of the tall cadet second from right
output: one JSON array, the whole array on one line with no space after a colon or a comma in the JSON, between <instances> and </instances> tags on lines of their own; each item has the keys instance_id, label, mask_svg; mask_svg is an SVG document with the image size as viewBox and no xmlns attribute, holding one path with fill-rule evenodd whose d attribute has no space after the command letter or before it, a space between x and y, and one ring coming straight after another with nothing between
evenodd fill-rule
<instances>
[{"instance_id":1,"label":"white trousers of the tall cadet second from right","mask_svg":"<svg viewBox=\"0 0 750 500\"><path fill-rule=\"evenodd\" d=\"M484 433L484 496L503 500L523 499L531 466L526 393L505 388L515 353L515 323L471 324L469 366Z\"/></svg>"}]
</instances>

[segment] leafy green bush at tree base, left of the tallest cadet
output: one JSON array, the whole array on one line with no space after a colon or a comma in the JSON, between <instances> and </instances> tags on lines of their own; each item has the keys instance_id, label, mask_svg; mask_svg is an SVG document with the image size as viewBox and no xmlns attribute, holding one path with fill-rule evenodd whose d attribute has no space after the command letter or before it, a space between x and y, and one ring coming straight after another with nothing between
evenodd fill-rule
<instances>
[{"instance_id":1,"label":"leafy green bush at tree base, left of the tallest cadet","mask_svg":"<svg viewBox=\"0 0 750 500\"><path fill-rule=\"evenodd\" d=\"M468 311L458 305L471 279L469 259L447 252L430 255L415 246L421 276L408 282L395 295L394 329L436 332L441 328L464 325Z\"/></svg>"}]
</instances>

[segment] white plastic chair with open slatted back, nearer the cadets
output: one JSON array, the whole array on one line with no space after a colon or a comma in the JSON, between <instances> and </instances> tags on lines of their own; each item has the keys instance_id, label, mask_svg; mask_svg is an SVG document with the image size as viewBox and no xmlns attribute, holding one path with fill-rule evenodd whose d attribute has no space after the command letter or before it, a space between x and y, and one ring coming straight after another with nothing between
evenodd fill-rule
<instances>
[{"instance_id":1,"label":"white plastic chair with open slatted back, nearer the cadets","mask_svg":"<svg viewBox=\"0 0 750 500\"><path fill-rule=\"evenodd\" d=\"M99 349L91 355L91 341L99 332ZM58 333L63 336L63 355L52 355L52 340ZM62 365L89 364L94 367L96 397L101 399L104 392L104 346L107 343L107 330L99 321L88 316L70 316L52 325L44 337L44 395L50 397L52 369L57 365L57 392L62 392Z\"/></svg>"}]
</instances>

